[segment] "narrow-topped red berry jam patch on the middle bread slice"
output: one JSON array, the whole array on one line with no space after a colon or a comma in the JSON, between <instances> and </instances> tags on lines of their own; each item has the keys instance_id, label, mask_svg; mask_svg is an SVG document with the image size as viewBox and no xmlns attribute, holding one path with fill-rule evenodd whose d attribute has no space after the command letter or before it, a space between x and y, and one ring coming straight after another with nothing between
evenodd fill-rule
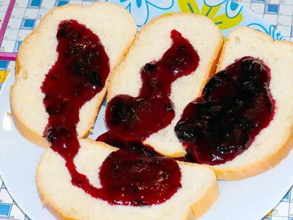
<instances>
[{"instance_id":1,"label":"narrow-topped red berry jam patch on the middle bread slice","mask_svg":"<svg viewBox=\"0 0 293 220\"><path fill-rule=\"evenodd\" d=\"M113 138L142 141L165 128L174 118L174 107L168 97L171 84L194 72L199 56L178 31L171 31L171 39L171 47L159 61L141 68L143 85L139 95L117 95L107 104L105 122Z\"/></svg>"}]
</instances>

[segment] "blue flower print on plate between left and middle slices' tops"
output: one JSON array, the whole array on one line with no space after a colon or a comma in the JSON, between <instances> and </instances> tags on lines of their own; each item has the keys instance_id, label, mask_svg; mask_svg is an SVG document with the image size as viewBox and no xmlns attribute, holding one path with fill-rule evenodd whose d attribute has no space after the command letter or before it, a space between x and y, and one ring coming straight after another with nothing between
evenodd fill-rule
<instances>
[{"instance_id":1,"label":"blue flower print on plate between left and middle slices' tops","mask_svg":"<svg viewBox=\"0 0 293 220\"><path fill-rule=\"evenodd\" d=\"M106 0L125 7L135 18L137 26L141 27L148 22L149 12L153 9L168 10L174 0Z\"/></svg>"}]
</instances>

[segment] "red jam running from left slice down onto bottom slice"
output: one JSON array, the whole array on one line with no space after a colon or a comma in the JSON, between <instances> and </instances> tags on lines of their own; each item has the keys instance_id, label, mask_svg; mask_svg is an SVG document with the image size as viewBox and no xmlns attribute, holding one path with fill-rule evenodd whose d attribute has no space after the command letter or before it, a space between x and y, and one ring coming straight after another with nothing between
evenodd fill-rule
<instances>
[{"instance_id":1,"label":"red jam running from left slice down onto bottom slice","mask_svg":"<svg viewBox=\"0 0 293 220\"><path fill-rule=\"evenodd\" d=\"M49 114L44 136L52 150L65 159L72 184L113 205L145 206L171 198L181 187L178 163L143 148L128 147L109 154L97 173L101 188L76 170L79 110L104 88L109 58L100 39L76 21L61 22L57 40L58 60L42 84Z\"/></svg>"}]
</instances>

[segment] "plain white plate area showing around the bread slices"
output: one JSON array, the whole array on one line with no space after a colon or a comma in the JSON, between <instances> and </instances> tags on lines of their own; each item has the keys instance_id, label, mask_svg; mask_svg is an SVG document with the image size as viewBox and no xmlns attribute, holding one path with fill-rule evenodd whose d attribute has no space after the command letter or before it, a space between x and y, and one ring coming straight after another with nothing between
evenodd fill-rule
<instances>
[{"instance_id":1,"label":"plain white plate area showing around the bread slices","mask_svg":"<svg viewBox=\"0 0 293 220\"><path fill-rule=\"evenodd\" d=\"M10 112L9 89L14 69L0 91L0 174L11 196L32 220L54 220L42 207L35 170L43 149L25 140L16 130ZM102 107L90 136L106 131ZM276 168L248 179L219 181L220 197L200 220L260 220L286 194L293 183L293 152Z\"/></svg>"}]
</instances>

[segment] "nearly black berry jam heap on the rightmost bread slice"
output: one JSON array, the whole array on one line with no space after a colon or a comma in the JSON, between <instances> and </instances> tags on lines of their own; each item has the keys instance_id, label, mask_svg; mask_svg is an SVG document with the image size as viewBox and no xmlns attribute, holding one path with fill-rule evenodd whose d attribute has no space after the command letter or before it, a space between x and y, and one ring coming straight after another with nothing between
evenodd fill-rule
<instances>
[{"instance_id":1,"label":"nearly black berry jam heap on the rightmost bread slice","mask_svg":"<svg viewBox=\"0 0 293 220\"><path fill-rule=\"evenodd\" d=\"M212 77L175 127L193 159L222 164L248 149L273 118L269 85L269 67L251 57L236 60Z\"/></svg>"}]
</instances>

